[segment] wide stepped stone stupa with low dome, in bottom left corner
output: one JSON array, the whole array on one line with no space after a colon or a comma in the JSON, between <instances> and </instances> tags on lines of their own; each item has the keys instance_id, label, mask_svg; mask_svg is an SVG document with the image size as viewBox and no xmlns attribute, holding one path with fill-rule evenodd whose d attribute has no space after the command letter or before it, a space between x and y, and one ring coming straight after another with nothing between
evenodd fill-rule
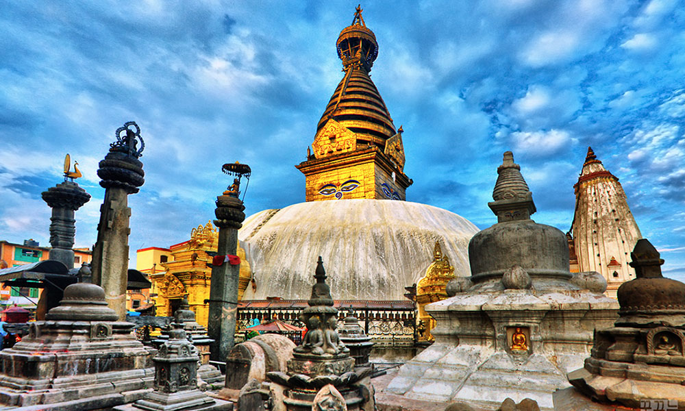
<instances>
[{"instance_id":1,"label":"wide stepped stone stupa with low dome, in bottom left corner","mask_svg":"<svg viewBox=\"0 0 685 411\"><path fill-rule=\"evenodd\" d=\"M104 290L71 284L46 321L0 351L0 403L42 410L93 410L140 398L153 382L150 353L116 321Z\"/></svg>"}]
</instances>

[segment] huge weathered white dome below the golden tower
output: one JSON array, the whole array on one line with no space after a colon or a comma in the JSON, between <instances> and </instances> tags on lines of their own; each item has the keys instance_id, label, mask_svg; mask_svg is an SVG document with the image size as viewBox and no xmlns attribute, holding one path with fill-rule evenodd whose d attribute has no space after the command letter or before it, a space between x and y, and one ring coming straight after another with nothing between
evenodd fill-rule
<instances>
[{"instance_id":1,"label":"huge weathered white dome below the golden tower","mask_svg":"<svg viewBox=\"0 0 685 411\"><path fill-rule=\"evenodd\" d=\"M403 300L440 240L455 275L471 275L479 230L453 212L408 201L310 201L249 216L238 232L257 289L244 300L309 299L319 256L334 299Z\"/></svg>"}]
</instances>

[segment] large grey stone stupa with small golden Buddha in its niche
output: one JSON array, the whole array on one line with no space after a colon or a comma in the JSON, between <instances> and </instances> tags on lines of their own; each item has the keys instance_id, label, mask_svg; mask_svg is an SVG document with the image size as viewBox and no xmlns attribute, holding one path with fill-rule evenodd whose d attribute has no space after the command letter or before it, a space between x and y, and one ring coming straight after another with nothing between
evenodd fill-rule
<instances>
[{"instance_id":1,"label":"large grey stone stupa with small golden Buddha in its niche","mask_svg":"<svg viewBox=\"0 0 685 411\"><path fill-rule=\"evenodd\" d=\"M469 243L472 276L456 277L447 285L453 297L425 307L436 319L435 343L401 366L390 393L493 409L528 397L551 410L595 327L616 319L603 277L573 277L566 236L530 219L532 193L510 151L497 173L488 203L497 224Z\"/></svg>"}]
</instances>

